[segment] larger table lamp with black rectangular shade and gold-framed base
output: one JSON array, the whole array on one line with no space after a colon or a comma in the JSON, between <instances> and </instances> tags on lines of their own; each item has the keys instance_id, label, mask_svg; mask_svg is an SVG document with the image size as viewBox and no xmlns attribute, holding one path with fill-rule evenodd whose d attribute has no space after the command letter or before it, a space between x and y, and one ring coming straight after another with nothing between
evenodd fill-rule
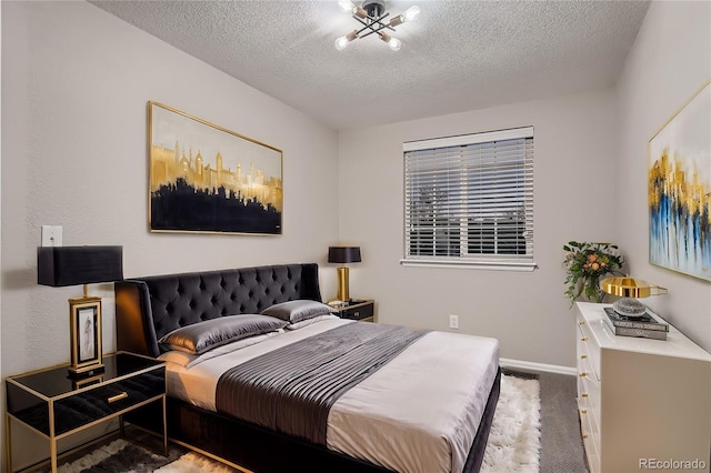
<instances>
[{"instance_id":1,"label":"larger table lamp with black rectangular shade and gold-framed base","mask_svg":"<svg viewBox=\"0 0 711 473\"><path fill-rule=\"evenodd\" d=\"M122 246L38 246L37 283L61 288L83 284L83 296L69 299L72 378L103 372L101 298L87 284L123 279Z\"/></svg>"}]
</instances>

